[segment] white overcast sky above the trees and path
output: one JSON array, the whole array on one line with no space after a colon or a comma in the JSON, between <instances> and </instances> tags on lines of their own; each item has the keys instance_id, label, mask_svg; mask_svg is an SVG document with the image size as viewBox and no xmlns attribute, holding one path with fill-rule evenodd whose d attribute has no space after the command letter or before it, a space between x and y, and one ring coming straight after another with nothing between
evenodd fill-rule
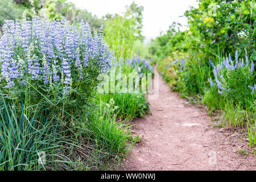
<instances>
[{"instance_id":1,"label":"white overcast sky above the trees and path","mask_svg":"<svg viewBox=\"0 0 256 182\"><path fill-rule=\"evenodd\" d=\"M125 6L134 1L144 7L143 35L154 38L161 31L168 30L172 22L187 25L187 18L182 16L189 6L197 7L196 0L69 0L80 9L86 9L101 18L105 14L122 14Z\"/></svg>"}]
</instances>

